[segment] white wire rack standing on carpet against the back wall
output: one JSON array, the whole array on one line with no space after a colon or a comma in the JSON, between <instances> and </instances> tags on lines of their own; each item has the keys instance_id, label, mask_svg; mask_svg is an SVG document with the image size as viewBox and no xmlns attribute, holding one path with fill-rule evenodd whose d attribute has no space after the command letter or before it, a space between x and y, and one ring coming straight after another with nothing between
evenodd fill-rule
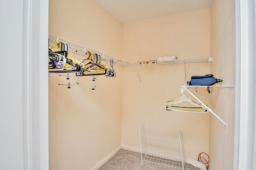
<instances>
[{"instance_id":1,"label":"white wire rack standing on carpet against the back wall","mask_svg":"<svg viewBox=\"0 0 256 170\"><path fill-rule=\"evenodd\" d=\"M179 134L146 133L144 126L140 127L141 164L150 163L174 170L184 170L184 154L182 136Z\"/></svg>"}]
</instances>

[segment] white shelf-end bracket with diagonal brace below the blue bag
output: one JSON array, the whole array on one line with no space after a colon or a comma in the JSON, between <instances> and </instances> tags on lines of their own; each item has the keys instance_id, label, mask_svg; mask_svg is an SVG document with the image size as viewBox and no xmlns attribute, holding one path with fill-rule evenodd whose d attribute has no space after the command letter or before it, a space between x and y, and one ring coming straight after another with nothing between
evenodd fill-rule
<instances>
[{"instance_id":1,"label":"white shelf-end bracket with diagonal brace below the blue bag","mask_svg":"<svg viewBox=\"0 0 256 170\"><path fill-rule=\"evenodd\" d=\"M204 102L202 102L192 92L190 92L190 90L188 90L188 88L190 88L190 87L209 87L209 86L182 86L181 87L181 93L183 94L184 91L186 90L189 94L191 94L196 100L198 100L198 102L200 102L200 104L202 104L202 106L204 106L206 109L208 109L217 119L219 119L225 125L225 129L227 131L228 130L228 124L224 120L222 120L216 113L214 113L214 111L210 107L206 106L204 104ZM234 88L234 86L228 86L228 85L226 85L226 86L210 86L210 87Z\"/></svg>"}]
</instances>

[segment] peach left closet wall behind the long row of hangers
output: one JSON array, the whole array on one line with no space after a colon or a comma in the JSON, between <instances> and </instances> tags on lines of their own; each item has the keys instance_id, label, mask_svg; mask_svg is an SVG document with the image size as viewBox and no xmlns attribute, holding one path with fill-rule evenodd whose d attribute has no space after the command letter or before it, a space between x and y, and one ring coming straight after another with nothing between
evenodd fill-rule
<instances>
[{"instance_id":1,"label":"peach left closet wall behind the long row of hangers","mask_svg":"<svg viewBox=\"0 0 256 170\"><path fill-rule=\"evenodd\" d=\"M94 0L50 0L49 33L122 57L122 24ZM69 55L75 59L79 56ZM122 68L115 69L115 78L98 76L95 82L71 77L74 74L66 80L50 73L50 170L97 169L106 157L121 149ZM58 85L77 81L79 85L70 89ZM93 83L95 90L84 87Z\"/></svg>"}]
</instances>

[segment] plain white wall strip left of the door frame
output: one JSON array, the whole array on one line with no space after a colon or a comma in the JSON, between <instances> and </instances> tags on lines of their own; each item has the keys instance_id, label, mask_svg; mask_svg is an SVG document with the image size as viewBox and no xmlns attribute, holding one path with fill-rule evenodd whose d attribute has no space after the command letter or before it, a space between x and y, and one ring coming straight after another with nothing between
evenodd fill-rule
<instances>
[{"instance_id":1,"label":"plain white wall strip left of the door frame","mask_svg":"<svg viewBox=\"0 0 256 170\"><path fill-rule=\"evenodd\" d=\"M23 169L22 13L22 1L1 1L0 169Z\"/></svg>"}]
</instances>

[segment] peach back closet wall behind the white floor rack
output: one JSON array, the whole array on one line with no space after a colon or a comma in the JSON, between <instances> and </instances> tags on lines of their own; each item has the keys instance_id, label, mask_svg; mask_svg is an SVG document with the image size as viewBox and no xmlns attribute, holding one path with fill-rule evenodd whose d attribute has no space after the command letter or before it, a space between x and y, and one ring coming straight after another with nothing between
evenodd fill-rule
<instances>
[{"instance_id":1,"label":"peach back closet wall behind the white floor rack","mask_svg":"<svg viewBox=\"0 0 256 170\"><path fill-rule=\"evenodd\" d=\"M175 55L178 59L210 57L209 8L124 25L123 60L157 60L166 55ZM186 64L187 80L192 75L209 73L209 63ZM138 129L145 125L146 131L181 130L185 157L196 159L200 152L208 152L209 113L167 111L162 107L179 98L184 85L184 64L123 68L124 148L139 151ZM198 89L198 93L209 101L206 89Z\"/></svg>"}]
</instances>

